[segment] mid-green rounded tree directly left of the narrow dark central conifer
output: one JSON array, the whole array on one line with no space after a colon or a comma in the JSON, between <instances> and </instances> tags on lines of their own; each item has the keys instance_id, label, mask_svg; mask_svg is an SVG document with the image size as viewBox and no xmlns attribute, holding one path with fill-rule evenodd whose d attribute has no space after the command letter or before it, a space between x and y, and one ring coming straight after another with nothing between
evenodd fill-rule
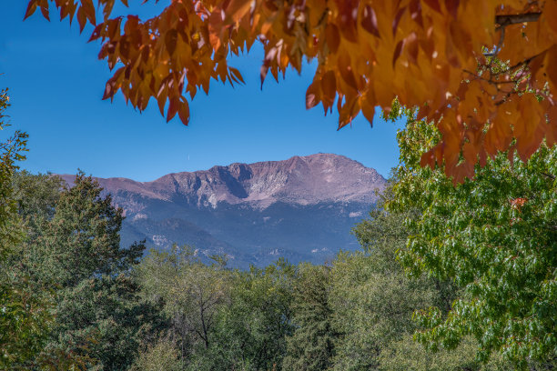
<instances>
[{"instance_id":1,"label":"mid-green rounded tree directly left of the narrow dark central conifer","mask_svg":"<svg viewBox=\"0 0 557 371\"><path fill-rule=\"evenodd\" d=\"M279 370L286 355L295 269L284 259L235 271L230 305L220 313L212 369Z\"/></svg>"}]
</instances>

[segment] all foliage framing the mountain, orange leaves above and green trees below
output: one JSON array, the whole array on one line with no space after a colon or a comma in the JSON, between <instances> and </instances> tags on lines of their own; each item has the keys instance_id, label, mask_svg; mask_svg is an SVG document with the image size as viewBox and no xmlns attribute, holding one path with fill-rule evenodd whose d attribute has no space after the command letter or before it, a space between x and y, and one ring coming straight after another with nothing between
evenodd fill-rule
<instances>
[{"instance_id":1,"label":"all foliage framing the mountain, orange leaves above and green trees below","mask_svg":"<svg viewBox=\"0 0 557 371\"><path fill-rule=\"evenodd\" d=\"M261 85L313 61L305 105L339 128L407 122L358 251L238 270L121 246L91 176L21 170L3 90L1 369L557 368L557 1L173 0L147 20L116 14L127 0L26 3L99 44L103 99L167 121L242 84L228 61L257 43Z\"/></svg>"}]
</instances>

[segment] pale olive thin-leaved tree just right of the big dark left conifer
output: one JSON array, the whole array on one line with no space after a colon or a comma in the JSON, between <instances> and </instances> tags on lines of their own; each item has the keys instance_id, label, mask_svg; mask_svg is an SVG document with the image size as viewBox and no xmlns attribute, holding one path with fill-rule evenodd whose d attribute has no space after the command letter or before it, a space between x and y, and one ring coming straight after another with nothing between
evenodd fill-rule
<instances>
[{"instance_id":1,"label":"pale olive thin-leaved tree just right of the big dark left conifer","mask_svg":"<svg viewBox=\"0 0 557 371\"><path fill-rule=\"evenodd\" d=\"M215 256L207 266L189 246L170 251L151 250L137 269L143 295L162 302L171 322L170 338L180 359L193 369L205 369L203 356L217 340L215 328L222 306L229 304L230 273Z\"/></svg>"}]
</instances>

